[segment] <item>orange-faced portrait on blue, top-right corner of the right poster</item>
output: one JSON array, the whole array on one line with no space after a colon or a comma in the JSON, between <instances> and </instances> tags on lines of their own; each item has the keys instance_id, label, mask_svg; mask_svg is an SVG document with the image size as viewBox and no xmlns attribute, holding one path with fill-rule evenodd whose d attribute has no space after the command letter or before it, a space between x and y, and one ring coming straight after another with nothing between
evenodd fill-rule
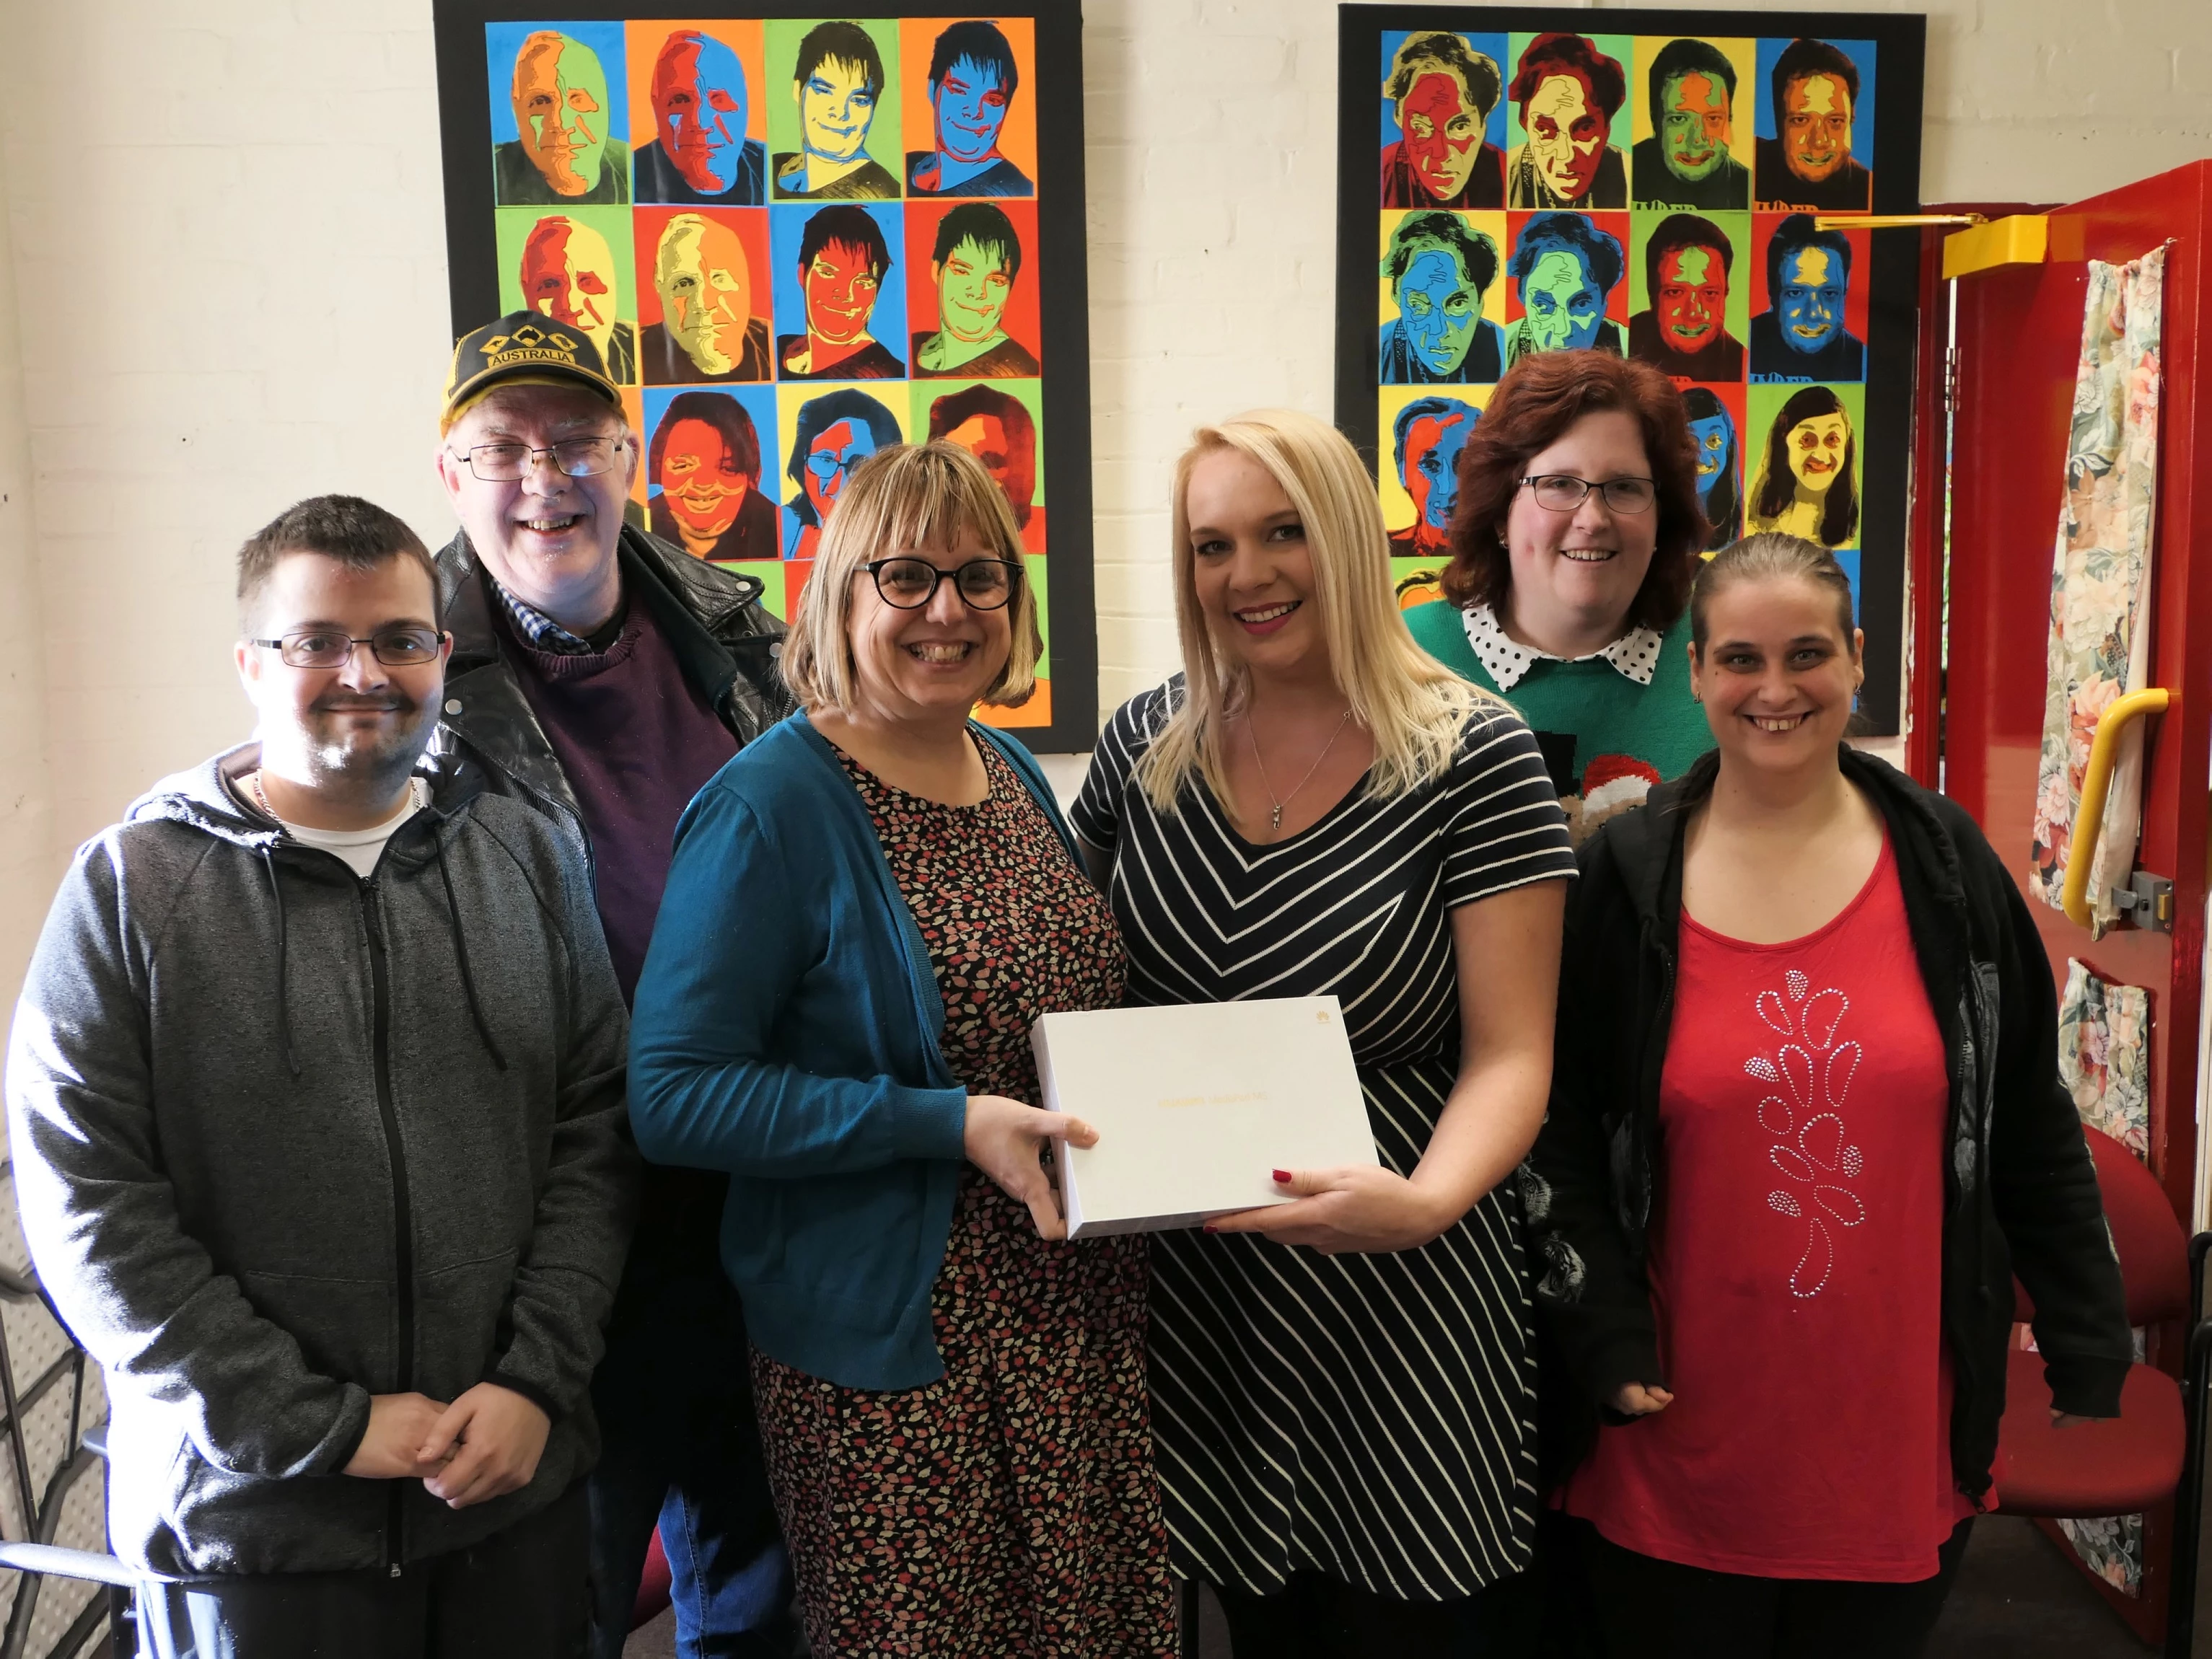
<instances>
[{"instance_id":1,"label":"orange-faced portrait on blue, top-right corner of the right poster","mask_svg":"<svg viewBox=\"0 0 2212 1659\"><path fill-rule=\"evenodd\" d=\"M1865 212L1874 206L1871 40L1759 42L1752 206Z\"/></svg>"}]
</instances>

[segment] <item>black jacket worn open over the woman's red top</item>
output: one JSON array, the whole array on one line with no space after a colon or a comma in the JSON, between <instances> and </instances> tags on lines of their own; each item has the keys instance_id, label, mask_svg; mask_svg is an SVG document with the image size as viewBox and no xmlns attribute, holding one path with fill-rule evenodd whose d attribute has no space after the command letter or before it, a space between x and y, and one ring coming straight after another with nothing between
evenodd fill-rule
<instances>
[{"instance_id":1,"label":"black jacket worn open over the woman's red top","mask_svg":"<svg viewBox=\"0 0 2212 1659\"><path fill-rule=\"evenodd\" d=\"M1624 1383L1659 1383L1646 1281L1663 1179L1659 1075L1674 1013L1681 847L1717 754L1652 790L1582 847L1568 894L1551 1110L1524 1172L1537 1307L1579 1394L1568 1458ZM1942 1329L1951 1345L1951 1473L1973 1500L2004 1416L2013 1274L2062 1411L2119 1413L2135 1354L2119 1256L2073 1099L2059 1084L2057 995L2035 922L1973 818L1882 761L1843 750L1843 774L1889 825L1913 953L1951 1084Z\"/></svg>"}]
</instances>

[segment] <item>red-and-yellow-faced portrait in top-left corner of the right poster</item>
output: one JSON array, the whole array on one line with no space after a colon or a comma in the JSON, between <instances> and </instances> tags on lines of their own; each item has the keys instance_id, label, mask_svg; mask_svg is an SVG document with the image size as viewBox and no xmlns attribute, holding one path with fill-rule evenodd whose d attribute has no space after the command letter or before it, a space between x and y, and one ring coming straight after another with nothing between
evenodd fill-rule
<instances>
[{"instance_id":1,"label":"red-and-yellow-faced portrait in top-left corner of the right poster","mask_svg":"<svg viewBox=\"0 0 2212 1659\"><path fill-rule=\"evenodd\" d=\"M1383 31L1385 208L1504 206L1506 73L1502 33Z\"/></svg>"}]
</instances>

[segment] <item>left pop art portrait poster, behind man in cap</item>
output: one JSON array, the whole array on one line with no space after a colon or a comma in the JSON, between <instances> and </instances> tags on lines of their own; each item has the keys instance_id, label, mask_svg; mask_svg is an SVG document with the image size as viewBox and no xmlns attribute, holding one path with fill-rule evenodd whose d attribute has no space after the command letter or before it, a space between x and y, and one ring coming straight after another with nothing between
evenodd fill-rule
<instances>
[{"instance_id":1,"label":"left pop art portrait poster, behind man in cap","mask_svg":"<svg viewBox=\"0 0 2212 1659\"><path fill-rule=\"evenodd\" d=\"M633 522L783 617L854 467L967 447L1013 507L1046 644L1037 695L980 714L1088 750L1077 0L436 0L436 29L453 334L513 310L588 334L637 431Z\"/></svg>"}]
</instances>

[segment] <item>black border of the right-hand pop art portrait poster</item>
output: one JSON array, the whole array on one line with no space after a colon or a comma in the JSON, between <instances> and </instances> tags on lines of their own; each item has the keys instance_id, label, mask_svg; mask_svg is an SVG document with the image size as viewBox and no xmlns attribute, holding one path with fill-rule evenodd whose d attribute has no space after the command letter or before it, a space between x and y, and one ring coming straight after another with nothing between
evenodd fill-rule
<instances>
[{"instance_id":1,"label":"black border of the right-hand pop art portrait poster","mask_svg":"<svg viewBox=\"0 0 2212 1659\"><path fill-rule=\"evenodd\" d=\"M1701 11L1571 7L1374 7L1338 4L1336 58L1336 427L1367 471L1374 440L1378 354L1374 321L1376 97L1383 86L1383 35L1394 29L1460 33L1608 35L1812 35L1871 40L1880 49L1874 91L1874 212L1920 212L1920 117L1927 84L1927 15L1878 11ZM1905 533L1911 504L1913 374L1920 327L1920 239L1909 230L1874 232L1867 288L1867 427L1860 462L1860 624L1867 633L1867 686L1858 710L1874 737L1896 737L1905 653ZM1876 345L1885 349L1876 349ZM1874 487L1880 478L1885 484Z\"/></svg>"}]
</instances>

